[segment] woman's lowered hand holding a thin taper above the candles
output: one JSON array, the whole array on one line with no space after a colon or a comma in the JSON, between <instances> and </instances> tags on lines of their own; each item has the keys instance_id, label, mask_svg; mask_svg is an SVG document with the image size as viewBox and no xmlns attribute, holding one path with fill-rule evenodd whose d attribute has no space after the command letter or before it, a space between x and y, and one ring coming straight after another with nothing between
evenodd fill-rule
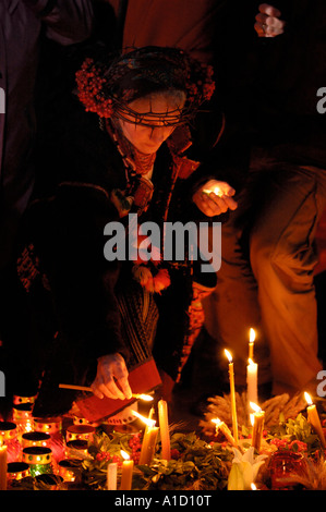
<instances>
[{"instance_id":1,"label":"woman's lowered hand holding a thin taper above the candles","mask_svg":"<svg viewBox=\"0 0 326 512\"><path fill-rule=\"evenodd\" d=\"M104 355L97 359L97 374L92 390L102 399L130 400L132 392L128 381L128 369L121 354Z\"/></svg>"}]
</instances>

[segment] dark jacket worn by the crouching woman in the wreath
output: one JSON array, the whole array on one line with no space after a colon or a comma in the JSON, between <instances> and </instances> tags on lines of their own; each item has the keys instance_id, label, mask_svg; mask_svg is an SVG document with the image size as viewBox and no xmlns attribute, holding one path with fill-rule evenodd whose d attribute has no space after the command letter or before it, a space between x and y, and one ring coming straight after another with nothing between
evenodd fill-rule
<instances>
[{"instance_id":1,"label":"dark jacket worn by the crouching woman in the wreath","mask_svg":"<svg viewBox=\"0 0 326 512\"><path fill-rule=\"evenodd\" d=\"M134 363L134 354L130 353L123 336L119 307L119 295L130 294L135 287L132 265L108 261L104 256L105 225L128 219L119 218L110 200L112 190L123 191L126 186L125 169L110 136L99 129L97 115L86 114L81 106L75 109L75 105L73 112L72 124L67 122L62 141L55 142L47 162L47 172L53 175L53 187L48 197L35 200L25 216L19 258L19 275L28 300L38 308L37 318L43 319L43 326L44 319L50 318L46 324L52 326L52 334L57 332L55 345L50 329L47 341L39 333L33 334L35 340L43 340L38 352L43 359L40 365L48 363L50 368L51 385L39 398L45 409L58 403L69 406L73 393L64 390L62 399L58 400L62 391L58 390L58 383L90 383L97 357L120 352L129 367ZM204 219L191 196L205 175L217 172L213 166L215 160L204 158L221 126L221 115L214 115L214 120L216 125L209 126L209 136L202 137L206 147L200 150L194 144L190 150L193 161L196 156L207 161L188 178L179 178L173 183L172 154L166 144L158 150L154 195L148 209L140 216L140 222L153 220L162 227L167 205L171 222ZM157 365L176 378L189 325L193 270L186 260L181 266L172 263L167 267L171 285L157 295L153 304L159 312L153 354ZM39 308L49 305L47 313L39 313ZM43 414L45 409L41 409Z\"/></svg>"}]
</instances>

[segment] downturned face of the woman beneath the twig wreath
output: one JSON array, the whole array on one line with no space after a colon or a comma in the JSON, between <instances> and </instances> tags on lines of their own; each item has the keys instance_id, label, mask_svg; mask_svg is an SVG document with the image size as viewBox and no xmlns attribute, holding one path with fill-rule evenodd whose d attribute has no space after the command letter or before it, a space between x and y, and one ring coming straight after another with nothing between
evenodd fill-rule
<instances>
[{"instance_id":1,"label":"downturned face of the woman beneath the twig wreath","mask_svg":"<svg viewBox=\"0 0 326 512\"><path fill-rule=\"evenodd\" d=\"M146 155L156 153L160 145L171 135L176 126L165 125L165 114L176 113L184 106L183 97L171 95L155 95L135 99L129 107L135 112L146 114L146 125L138 124L136 119L128 114L128 120L119 120L123 135L135 146L138 151ZM150 117L150 113L161 113ZM148 124L148 125L147 125Z\"/></svg>"}]
</instances>

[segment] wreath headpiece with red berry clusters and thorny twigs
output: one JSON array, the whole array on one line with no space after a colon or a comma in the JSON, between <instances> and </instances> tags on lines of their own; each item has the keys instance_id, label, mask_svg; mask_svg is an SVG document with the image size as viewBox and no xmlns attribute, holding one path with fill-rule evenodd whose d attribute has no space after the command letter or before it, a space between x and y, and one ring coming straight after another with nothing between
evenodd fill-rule
<instances>
[{"instance_id":1,"label":"wreath headpiece with red berry clusters and thorny twigs","mask_svg":"<svg viewBox=\"0 0 326 512\"><path fill-rule=\"evenodd\" d=\"M209 100L214 89L213 68L192 59L177 48L145 47L119 56L110 62L87 58L76 73L77 95L86 111L100 118L124 119L132 114L128 103L153 93L183 90L186 101L182 110L156 114L177 125L190 120L198 107ZM149 112L148 112L149 114ZM155 114L150 112L153 119ZM146 124L146 114L140 124Z\"/></svg>"}]
</instances>

